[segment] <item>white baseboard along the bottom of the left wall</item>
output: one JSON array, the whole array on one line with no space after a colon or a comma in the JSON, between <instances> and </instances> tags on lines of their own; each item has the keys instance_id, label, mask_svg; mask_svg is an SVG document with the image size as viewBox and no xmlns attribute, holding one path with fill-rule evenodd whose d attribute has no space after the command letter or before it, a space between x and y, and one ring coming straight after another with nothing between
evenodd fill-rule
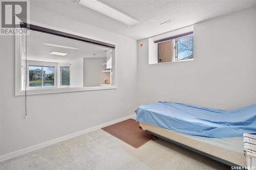
<instances>
[{"instance_id":1,"label":"white baseboard along the bottom of the left wall","mask_svg":"<svg viewBox=\"0 0 256 170\"><path fill-rule=\"evenodd\" d=\"M54 143L57 143L57 142L60 142L60 141L63 141L63 140L67 140L67 139L82 135L84 133L88 133L88 132L103 128L105 126L109 126L109 125L121 122L121 121L129 119L129 118L136 118L136 114L132 114L130 116L122 117L122 118L113 120L113 121L108 122L108 123L104 123L104 124L101 124L101 125L98 125L98 126L95 126L95 127L92 127L92 128L84 129L84 130L79 131L79 132L75 132L75 133L72 133L72 134L69 134L69 135L66 135L66 136L62 136L62 137L59 137L59 138L56 138L56 139L53 139L53 140L46 141L44 143L39 143L39 144L33 145L31 147L24 148L22 150L18 150L18 151L11 152L11 153L6 154L6 155L2 155L2 156L0 156L0 162L8 160L8 159L12 159L14 157L17 157L17 156L20 156L20 155L23 155L23 154L26 154L26 153L44 148L44 147L47 147L51 144L54 144Z\"/></svg>"}]
</instances>

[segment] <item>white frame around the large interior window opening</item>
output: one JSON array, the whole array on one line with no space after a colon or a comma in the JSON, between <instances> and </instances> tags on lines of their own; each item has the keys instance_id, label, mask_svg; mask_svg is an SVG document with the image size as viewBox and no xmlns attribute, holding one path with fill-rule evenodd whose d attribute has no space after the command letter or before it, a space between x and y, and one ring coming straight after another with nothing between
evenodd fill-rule
<instances>
[{"instance_id":1,"label":"white frame around the large interior window opening","mask_svg":"<svg viewBox=\"0 0 256 170\"><path fill-rule=\"evenodd\" d=\"M102 40L102 39L98 39L89 35L84 35L84 34L79 34L79 33L75 33L72 31L68 31L68 30L64 30L64 29L60 29L57 27L52 27L49 25L44 25L42 23L39 22L35 22L35 21L30 21L31 24L33 25L37 25L40 27L44 27L44 28L48 28L48 29L52 29L52 30L57 30L57 31L61 31L61 32L66 32L69 34L73 34L73 35L77 35L77 36L81 36L81 37L87 37L87 38L91 38L97 41L101 41L101 42L106 42L106 43L110 43L110 44L114 44L115 46L116 43L114 42L110 42L107 40ZM35 95L35 94L48 94L48 93L63 93L63 92L75 92L75 91L91 91L91 90L107 90L107 89L117 89L117 69L116 69L116 50L117 48L113 48L113 60L112 60L112 85L111 86L95 86L95 87L62 87L62 88L40 88L40 89L28 89L26 88L26 90L22 89L22 58L24 58L24 55L26 55L26 49L22 46L24 44L24 42L26 42L26 36L24 35L15 35L15 96L19 96L19 95L25 95L25 91L27 95ZM56 69L55 69L56 72ZM55 75L57 76L57 74ZM29 82L27 82L28 84Z\"/></svg>"}]
</instances>

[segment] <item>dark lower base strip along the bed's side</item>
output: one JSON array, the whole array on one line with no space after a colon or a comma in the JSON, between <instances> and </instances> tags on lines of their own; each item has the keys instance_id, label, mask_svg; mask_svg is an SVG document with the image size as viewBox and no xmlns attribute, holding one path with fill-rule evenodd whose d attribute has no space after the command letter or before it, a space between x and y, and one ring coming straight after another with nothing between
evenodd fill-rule
<instances>
[{"instance_id":1,"label":"dark lower base strip along the bed's side","mask_svg":"<svg viewBox=\"0 0 256 170\"><path fill-rule=\"evenodd\" d=\"M147 130L145 130L145 131L146 131L147 133L152 134L152 135L153 135L153 139L154 139L154 136L157 136L157 137L159 137L159 138L161 138L161 139L164 139L164 140L166 140L166 141L169 141L169 142L172 142L172 143L174 143L174 144L177 144L177 145L179 145L180 147L186 148L186 149L188 149L188 150L190 150L190 151L193 151L193 152L196 152L196 153L201 154L201 155L203 155L203 156L206 156L206 157L208 157L208 158L214 159L214 160L216 160L216 161L218 161L218 162L221 162L221 163L224 163L224 164L226 164L226 165L228 165L228 166L240 166L240 165L231 163L231 162L229 162L229 161L227 161L227 160L224 160L224 159L221 159L221 158L212 156L212 155L210 155L210 154L204 153L204 152L199 151L199 150L197 150L197 149L195 149L195 148L188 147L187 145L184 145L184 144L179 143L179 142L177 142L177 141L174 141L174 140L172 140L172 139L168 139L168 138L163 137L163 136L161 136L161 135L155 134L155 133L153 133L153 132L151 132L151 131L147 131Z\"/></svg>"}]
</instances>

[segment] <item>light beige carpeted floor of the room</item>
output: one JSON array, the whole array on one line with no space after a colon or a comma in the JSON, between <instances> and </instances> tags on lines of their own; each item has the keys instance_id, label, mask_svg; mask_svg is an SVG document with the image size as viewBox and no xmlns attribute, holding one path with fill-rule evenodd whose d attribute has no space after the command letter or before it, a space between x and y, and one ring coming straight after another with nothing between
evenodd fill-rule
<instances>
[{"instance_id":1,"label":"light beige carpeted floor of the room","mask_svg":"<svg viewBox=\"0 0 256 170\"><path fill-rule=\"evenodd\" d=\"M96 130L1 162L0 169L230 169L162 139L135 149Z\"/></svg>"}]
</instances>

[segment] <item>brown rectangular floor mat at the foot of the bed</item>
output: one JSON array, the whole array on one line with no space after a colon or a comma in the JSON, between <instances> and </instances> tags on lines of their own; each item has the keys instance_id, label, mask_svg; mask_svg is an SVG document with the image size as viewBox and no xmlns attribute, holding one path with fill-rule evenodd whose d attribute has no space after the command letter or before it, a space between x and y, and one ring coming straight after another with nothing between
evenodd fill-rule
<instances>
[{"instance_id":1,"label":"brown rectangular floor mat at the foot of the bed","mask_svg":"<svg viewBox=\"0 0 256 170\"><path fill-rule=\"evenodd\" d=\"M101 129L134 148L141 147L152 138L152 135L140 129L139 123L132 118Z\"/></svg>"}]
</instances>

